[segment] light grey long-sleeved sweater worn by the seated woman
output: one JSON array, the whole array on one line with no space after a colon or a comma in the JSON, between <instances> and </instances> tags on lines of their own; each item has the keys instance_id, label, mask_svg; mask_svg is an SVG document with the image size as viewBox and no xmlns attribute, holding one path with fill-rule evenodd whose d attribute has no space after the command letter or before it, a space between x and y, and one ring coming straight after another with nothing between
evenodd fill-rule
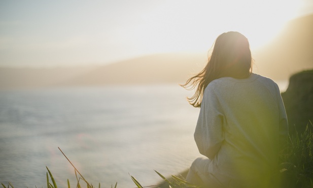
<instances>
[{"instance_id":1,"label":"light grey long-sleeved sweater worn by the seated woman","mask_svg":"<svg viewBox=\"0 0 313 188\"><path fill-rule=\"evenodd\" d=\"M287 135L285 107L271 79L252 73L219 78L205 88L194 138L212 160L207 172L221 185L255 187L269 180Z\"/></svg>"}]
</instances>

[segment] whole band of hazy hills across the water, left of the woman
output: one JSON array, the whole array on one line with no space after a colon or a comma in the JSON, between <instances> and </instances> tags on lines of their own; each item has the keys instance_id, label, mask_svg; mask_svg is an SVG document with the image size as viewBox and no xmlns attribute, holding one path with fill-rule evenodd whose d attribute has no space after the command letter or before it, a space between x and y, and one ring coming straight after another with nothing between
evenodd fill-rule
<instances>
[{"instance_id":1,"label":"whole band of hazy hills across the water, left of the woman","mask_svg":"<svg viewBox=\"0 0 313 188\"><path fill-rule=\"evenodd\" d=\"M103 84L182 84L199 72L206 54L154 54L106 66L78 68L0 68L0 89Z\"/></svg>"}]
</instances>

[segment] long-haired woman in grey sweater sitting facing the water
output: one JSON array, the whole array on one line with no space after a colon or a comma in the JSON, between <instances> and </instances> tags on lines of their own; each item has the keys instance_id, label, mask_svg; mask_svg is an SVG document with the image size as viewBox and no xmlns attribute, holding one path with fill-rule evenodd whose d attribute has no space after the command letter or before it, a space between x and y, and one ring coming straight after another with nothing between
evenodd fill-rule
<instances>
[{"instance_id":1,"label":"long-haired woman in grey sweater sitting facing the water","mask_svg":"<svg viewBox=\"0 0 313 188\"><path fill-rule=\"evenodd\" d=\"M275 185L287 116L277 84L252 73L248 39L220 35L206 67L183 86L196 88L188 100L200 107L194 138L205 156L186 179L213 188Z\"/></svg>"}]
</instances>

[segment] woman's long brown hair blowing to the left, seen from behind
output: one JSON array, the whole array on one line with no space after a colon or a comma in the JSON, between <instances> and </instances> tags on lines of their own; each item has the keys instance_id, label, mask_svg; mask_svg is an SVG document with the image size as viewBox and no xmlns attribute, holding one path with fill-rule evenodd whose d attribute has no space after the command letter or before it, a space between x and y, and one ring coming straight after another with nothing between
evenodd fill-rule
<instances>
[{"instance_id":1,"label":"woman's long brown hair blowing to the left, seen from behind","mask_svg":"<svg viewBox=\"0 0 313 188\"><path fill-rule=\"evenodd\" d=\"M192 106L200 107L204 89L210 82L221 77L247 78L251 72L248 39L238 32L227 32L215 40L205 68L181 86L189 90L196 88L194 95L187 99Z\"/></svg>"}]
</instances>

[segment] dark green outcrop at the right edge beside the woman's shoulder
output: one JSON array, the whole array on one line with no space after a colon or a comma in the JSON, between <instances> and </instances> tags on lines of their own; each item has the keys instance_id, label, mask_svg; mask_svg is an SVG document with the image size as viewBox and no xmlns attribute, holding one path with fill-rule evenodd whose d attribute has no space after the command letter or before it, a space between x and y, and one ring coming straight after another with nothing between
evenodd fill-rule
<instances>
[{"instance_id":1,"label":"dark green outcrop at the right edge beside the woman's shoulder","mask_svg":"<svg viewBox=\"0 0 313 188\"><path fill-rule=\"evenodd\" d=\"M302 133L309 121L313 123L313 70L292 75L287 90L282 93L282 98L288 116L290 135L295 131Z\"/></svg>"}]
</instances>

